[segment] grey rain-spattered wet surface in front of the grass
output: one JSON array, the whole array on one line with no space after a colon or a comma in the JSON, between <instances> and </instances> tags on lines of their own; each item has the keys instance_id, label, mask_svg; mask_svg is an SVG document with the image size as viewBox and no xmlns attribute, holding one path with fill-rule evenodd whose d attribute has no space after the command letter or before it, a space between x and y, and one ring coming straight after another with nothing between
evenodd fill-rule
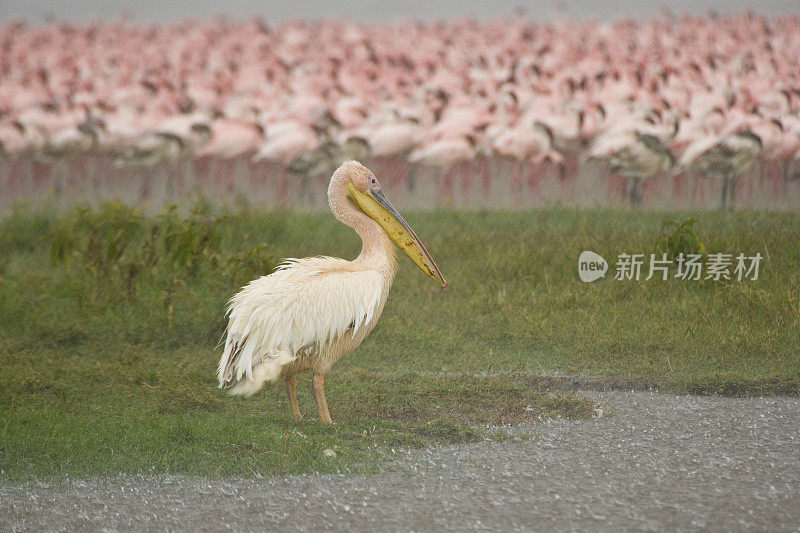
<instances>
[{"instance_id":1,"label":"grey rain-spattered wet surface in front of the grass","mask_svg":"<svg viewBox=\"0 0 800 533\"><path fill-rule=\"evenodd\" d=\"M800 530L800 398L583 392L613 411L370 476L0 486L17 530Z\"/></svg>"}]
</instances>

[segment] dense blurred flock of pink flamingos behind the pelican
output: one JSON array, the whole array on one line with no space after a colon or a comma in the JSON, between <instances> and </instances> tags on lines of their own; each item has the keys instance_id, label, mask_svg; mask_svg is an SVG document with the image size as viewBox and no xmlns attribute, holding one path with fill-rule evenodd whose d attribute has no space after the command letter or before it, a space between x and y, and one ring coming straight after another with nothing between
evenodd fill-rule
<instances>
[{"instance_id":1,"label":"dense blurred flock of pink flamingos behind the pelican","mask_svg":"<svg viewBox=\"0 0 800 533\"><path fill-rule=\"evenodd\" d=\"M435 205L796 208L800 17L0 27L5 199L286 205L348 159Z\"/></svg>"}]
</instances>

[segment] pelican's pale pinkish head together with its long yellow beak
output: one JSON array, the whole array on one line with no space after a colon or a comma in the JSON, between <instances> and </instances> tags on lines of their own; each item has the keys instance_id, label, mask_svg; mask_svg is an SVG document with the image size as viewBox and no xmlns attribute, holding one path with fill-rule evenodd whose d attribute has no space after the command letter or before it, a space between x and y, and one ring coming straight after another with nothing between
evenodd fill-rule
<instances>
[{"instance_id":1,"label":"pelican's pale pinkish head together with its long yellow beak","mask_svg":"<svg viewBox=\"0 0 800 533\"><path fill-rule=\"evenodd\" d=\"M367 167L356 161L343 163L334 172L330 186L342 185L354 209L374 220L420 270L447 288L447 282L422 241L383 194L378 179Z\"/></svg>"}]
</instances>

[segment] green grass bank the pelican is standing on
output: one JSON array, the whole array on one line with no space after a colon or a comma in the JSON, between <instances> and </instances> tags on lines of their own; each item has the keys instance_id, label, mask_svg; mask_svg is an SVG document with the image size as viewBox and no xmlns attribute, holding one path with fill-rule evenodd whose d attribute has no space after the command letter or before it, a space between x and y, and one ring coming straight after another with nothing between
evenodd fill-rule
<instances>
[{"instance_id":1,"label":"green grass bank the pelican is standing on","mask_svg":"<svg viewBox=\"0 0 800 533\"><path fill-rule=\"evenodd\" d=\"M665 218L698 219L710 252L761 252L757 281L582 283L577 258L650 253ZM501 438L485 424L591 416L552 386L800 392L800 214L610 210L407 213L450 286L410 261L376 330L326 380L337 425L315 422L310 376L250 399L216 389L215 349L238 280L202 263L154 269L135 291L50 262L61 222L0 220L0 479L368 471L388 450ZM243 212L222 255L267 243L276 258L354 257L328 213ZM179 278L179 279L178 279ZM554 392L555 390L555 392ZM333 449L337 457L323 454Z\"/></svg>"}]
</instances>

